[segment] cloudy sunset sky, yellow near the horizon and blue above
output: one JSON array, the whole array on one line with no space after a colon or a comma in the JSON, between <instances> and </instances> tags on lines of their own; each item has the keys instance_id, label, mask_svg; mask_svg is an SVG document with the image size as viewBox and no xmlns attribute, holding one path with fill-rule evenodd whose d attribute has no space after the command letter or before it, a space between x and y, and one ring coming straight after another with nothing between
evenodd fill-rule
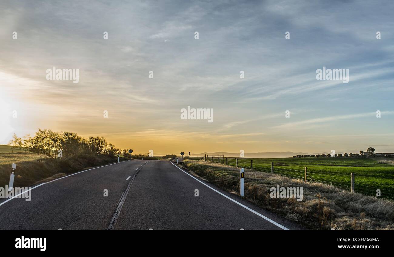
<instances>
[{"instance_id":1,"label":"cloudy sunset sky, yellow near the horizon and blue above","mask_svg":"<svg viewBox=\"0 0 394 257\"><path fill-rule=\"evenodd\" d=\"M135 153L394 152L393 9L2 0L0 144L40 128ZM52 67L78 69L79 82L47 80ZM349 82L317 80L323 67ZM213 122L181 119L188 106L213 109Z\"/></svg>"}]
</instances>

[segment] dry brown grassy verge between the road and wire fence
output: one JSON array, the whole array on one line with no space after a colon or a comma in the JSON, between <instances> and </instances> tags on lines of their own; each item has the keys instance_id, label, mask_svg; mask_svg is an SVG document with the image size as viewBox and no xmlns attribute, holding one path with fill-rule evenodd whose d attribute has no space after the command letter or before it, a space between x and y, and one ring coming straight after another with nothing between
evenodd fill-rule
<instances>
[{"instance_id":1,"label":"dry brown grassy verge between the road and wire fence","mask_svg":"<svg viewBox=\"0 0 394 257\"><path fill-rule=\"evenodd\" d=\"M239 168L200 161L182 165L223 190L239 192ZM302 187L303 201L271 198L270 188L277 185ZM245 198L309 229L394 229L392 201L279 174L245 170Z\"/></svg>"}]
</instances>

